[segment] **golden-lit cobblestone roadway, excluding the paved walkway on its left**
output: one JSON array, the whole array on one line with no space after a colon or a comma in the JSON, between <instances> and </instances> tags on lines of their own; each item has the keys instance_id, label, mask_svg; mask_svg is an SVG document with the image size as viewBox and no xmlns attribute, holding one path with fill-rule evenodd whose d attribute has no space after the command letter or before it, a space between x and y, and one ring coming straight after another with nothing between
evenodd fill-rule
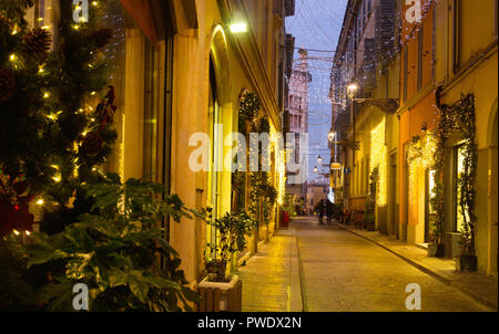
<instances>
[{"instance_id":1,"label":"golden-lit cobblestone roadway, excluding the paved walkway on its left","mask_svg":"<svg viewBox=\"0 0 499 334\"><path fill-rule=\"evenodd\" d=\"M490 311L462 292L421 272L383 248L315 218L294 223L310 312L404 312L421 288L422 312Z\"/></svg>"}]
</instances>

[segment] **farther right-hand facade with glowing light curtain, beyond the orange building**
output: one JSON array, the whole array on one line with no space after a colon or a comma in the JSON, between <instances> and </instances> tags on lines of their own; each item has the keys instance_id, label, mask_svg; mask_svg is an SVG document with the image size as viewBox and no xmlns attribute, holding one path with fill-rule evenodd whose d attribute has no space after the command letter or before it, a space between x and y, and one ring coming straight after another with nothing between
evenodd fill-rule
<instances>
[{"instance_id":1,"label":"farther right-hand facade with glowing light curtain, beyond the orange building","mask_svg":"<svg viewBox=\"0 0 499 334\"><path fill-rule=\"evenodd\" d=\"M337 198L345 209L365 212L374 189L374 228L398 236L399 124L395 112L400 62L394 35L398 35L395 13L399 8L380 0L350 1L349 7L353 10L345 17L332 76L333 127L340 143L333 145L334 155L343 164L342 187L336 187L343 194ZM381 25L389 29L379 33ZM352 84L357 90L349 96ZM371 189L375 171L378 178Z\"/></svg>"}]
</instances>

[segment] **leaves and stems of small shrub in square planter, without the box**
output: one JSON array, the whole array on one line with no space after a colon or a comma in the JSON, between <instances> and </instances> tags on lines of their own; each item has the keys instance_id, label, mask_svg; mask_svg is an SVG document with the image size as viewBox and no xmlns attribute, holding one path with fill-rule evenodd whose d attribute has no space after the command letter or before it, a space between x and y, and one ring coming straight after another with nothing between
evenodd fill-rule
<instances>
[{"instance_id":1,"label":"leaves and stems of small shrub in square planter, without the box","mask_svg":"<svg viewBox=\"0 0 499 334\"><path fill-rule=\"evenodd\" d=\"M206 263L210 273L215 274L215 281L225 282L226 265L232 254L246 247L246 236L257 226L246 212L226 213L225 216L210 222L216 228L217 243L208 244L215 258ZM214 270L210 270L213 268Z\"/></svg>"}]
</instances>

